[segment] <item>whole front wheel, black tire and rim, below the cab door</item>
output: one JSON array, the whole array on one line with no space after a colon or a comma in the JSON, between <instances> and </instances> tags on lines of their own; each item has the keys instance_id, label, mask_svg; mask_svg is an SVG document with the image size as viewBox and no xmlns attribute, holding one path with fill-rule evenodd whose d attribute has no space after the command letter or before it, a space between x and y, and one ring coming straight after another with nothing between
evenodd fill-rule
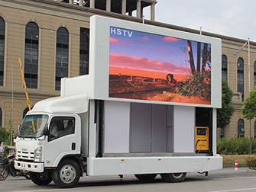
<instances>
[{"instance_id":1,"label":"whole front wheel, black tire and rim, below the cab door","mask_svg":"<svg viewBox=\"0 0 256 192\"><path fill-rule=\"evenodd\" d=\"M80 175L79 165L71 159L66 159L53 171L53 181L57 187L70 188L78 183Z\"/></svg>"}]
</instances>

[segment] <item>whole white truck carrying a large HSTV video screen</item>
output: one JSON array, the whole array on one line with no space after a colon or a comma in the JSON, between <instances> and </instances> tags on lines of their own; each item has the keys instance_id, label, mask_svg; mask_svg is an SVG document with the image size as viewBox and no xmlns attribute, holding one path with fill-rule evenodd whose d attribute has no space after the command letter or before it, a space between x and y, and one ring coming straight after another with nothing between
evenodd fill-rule
<instances>
[{"instance_id":1,"label":"whole white truck carrying a large HSTV video screen","mask_svg":"<svg viewBox=\"0 0 256 192\"><path fill-rule=\"evenodd\" d=\"M222 168L221 40L92 16L89 48L89 75L63 78L60 97L24 117L15 168L57 187L83 175L179 182Z\"/></svg>"}]
</instances>

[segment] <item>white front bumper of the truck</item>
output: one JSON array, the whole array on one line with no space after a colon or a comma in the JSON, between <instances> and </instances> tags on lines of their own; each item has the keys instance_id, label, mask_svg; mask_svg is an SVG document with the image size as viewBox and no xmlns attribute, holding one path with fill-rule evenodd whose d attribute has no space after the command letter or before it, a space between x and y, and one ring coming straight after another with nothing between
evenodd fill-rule
<instances>
[{"instance_id":1,"label":"white front bumper of the truck","mask_svg":"<svg viewBox=\"0 0 256 192\"><path fill-rule=\"evenodd\" d=\"M21 162L15 160L15 168L23 171L42 173L44 172L44 163Z\"/></svg>"}]
</instances>

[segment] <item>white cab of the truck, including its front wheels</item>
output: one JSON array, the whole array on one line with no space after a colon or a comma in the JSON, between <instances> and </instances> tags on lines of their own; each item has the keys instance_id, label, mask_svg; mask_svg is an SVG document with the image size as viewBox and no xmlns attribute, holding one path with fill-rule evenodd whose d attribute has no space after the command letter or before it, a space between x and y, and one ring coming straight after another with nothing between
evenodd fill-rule
<instances>
[{"instance_id":1,"label":"white cab of the truck, including its front wheels","mask_svg":"<svg viewBox=\"0 0 256 192\"><path fill-rule=\"evenodd\" d=\"M73 164L77 165L67 167L70 176L66 178L66 175L62 175L65 177L62 180L65 184L70 184L75 179L71 176L74 175L72 174L74 170L78 169L76 172L79 176L83 175L81 117L66 111L67 108L73 112L78 111L79 109L73 106L73 102L77 101L88 102L86 95L80 98L50 98L38 102L24 117L18 129L15 167L30 171L31 180L36 184L47 184L52 181L52 171L66 159L73 159ZM78 111L83 112L80 114L86 114L87 107L86 105L83 107L85 107L83 111Z\"/></svg>"}]
</instances>

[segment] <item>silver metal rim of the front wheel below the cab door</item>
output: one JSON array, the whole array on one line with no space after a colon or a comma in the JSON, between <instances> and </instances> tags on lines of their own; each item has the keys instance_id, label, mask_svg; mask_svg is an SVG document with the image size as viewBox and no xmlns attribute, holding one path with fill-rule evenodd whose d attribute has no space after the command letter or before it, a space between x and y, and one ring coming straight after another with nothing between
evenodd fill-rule
<instances>
[{"instance_id":1,"label":"silver metal rim of the front wheel below the cab door","mask_svg":"<svg viewBox=\"0 0 256 192\"><path fill-rule=\"evenodd\" d=\"M60 169L60 179L65 184L72 183L76 178L76 168L72 165L65 165Z\"/></svg>"}]
</instances>

